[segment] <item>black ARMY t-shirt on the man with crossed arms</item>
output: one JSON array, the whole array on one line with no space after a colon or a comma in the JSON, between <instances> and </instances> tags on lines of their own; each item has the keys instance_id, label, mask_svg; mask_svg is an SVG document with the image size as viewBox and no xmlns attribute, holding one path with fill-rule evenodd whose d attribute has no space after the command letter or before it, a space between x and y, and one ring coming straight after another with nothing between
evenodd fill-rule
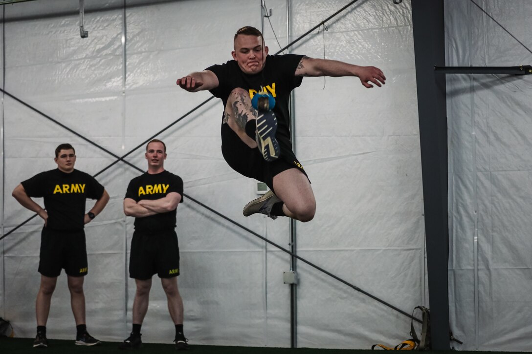
<instances>
[{"instance_id":1,"label":"black ARMY t-shirt on the man with crossed arms","mask_svg":"<svg viewBox=\"0 0 532 354\"><path fill-rule=\"evenodd\" d=\"M137 203L139 200L156 200L164 198L170 192L179 193L183 201L183 180L181 177L163 171L157 174L144 173L129 182L126 198L131 198ZM173 230L176 227L176 212L159 213L146 217L135 218L135 230L145 233L157 233Z\"/></svg>"}]
</instances>

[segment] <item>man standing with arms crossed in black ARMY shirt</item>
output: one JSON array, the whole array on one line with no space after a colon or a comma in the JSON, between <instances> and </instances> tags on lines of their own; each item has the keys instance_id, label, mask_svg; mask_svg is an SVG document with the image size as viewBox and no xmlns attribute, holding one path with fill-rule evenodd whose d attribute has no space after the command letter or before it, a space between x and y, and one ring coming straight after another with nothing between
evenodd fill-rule
<instances>
[{"instance_id":1,"label":"man standing with arms crossed in black ARMY shirt","mask_svg":"<svg viewBox=\"0 0 532 354\"><path fill-rule=\"evenodd\" d=\"M168 299L170 317L176 327L177 350L188 349L183 332L183 300L177 287L179 245L176 234L176 209L183 201L183 180L164 170L166 146L153 139L146 145L148 171L129 182L124 198L124 213L135 217L131 240L129 277L137 291L133 302L133 328L119 349L142 344L140 328L148 310L152 276L159 275Z\"/></svg>"}]
</instances>

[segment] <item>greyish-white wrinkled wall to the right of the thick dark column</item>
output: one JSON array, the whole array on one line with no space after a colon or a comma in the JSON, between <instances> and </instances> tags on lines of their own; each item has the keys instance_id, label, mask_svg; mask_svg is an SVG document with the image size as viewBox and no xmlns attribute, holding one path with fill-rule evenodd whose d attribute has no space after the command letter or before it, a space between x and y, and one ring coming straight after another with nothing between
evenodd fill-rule
<instances>
[{"instance_id":1,"label":"greyish-white wrinkled wall to the right of the thick dark column","mask_svg":"<svg viewBox=\"0 0 532 354\"><path fill-rule=\"evenodd\" d=\"M529 65L529 1L446 1L448 66ZM451 327L464 350L530 350L532 79L447 75ZM478 285L477 285L478 284Z\"/></svg>"}]
</instances>

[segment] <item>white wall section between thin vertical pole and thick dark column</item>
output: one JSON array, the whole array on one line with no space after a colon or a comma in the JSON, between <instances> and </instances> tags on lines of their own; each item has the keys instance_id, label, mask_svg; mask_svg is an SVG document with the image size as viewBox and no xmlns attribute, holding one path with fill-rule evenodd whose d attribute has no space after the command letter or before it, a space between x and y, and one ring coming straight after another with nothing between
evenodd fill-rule
<instances>
[{"instance_id":1,"label":"white wall section between thin vertical pole and thick dark column","mask_svg":"<svg viewBox=\"0 0 532 354\"><path fill-rule=\"evenodd\" d=\"M322 4L338 9L345 2ZM314 220L298 225L298 247L311 262L405 311L425 300L410 13L408 2L365 2L327 23L325 57L375 65L386 86L368 90L356 78L304 78L295 94L297 155L318 203ZM298 3L294 36L322 17L316 4ZM316 31L294 52L322 57L323 45ZM298 270L301 347L370 348L408 336L408 318L306 265Z\"/></svg>"}]
</instances>

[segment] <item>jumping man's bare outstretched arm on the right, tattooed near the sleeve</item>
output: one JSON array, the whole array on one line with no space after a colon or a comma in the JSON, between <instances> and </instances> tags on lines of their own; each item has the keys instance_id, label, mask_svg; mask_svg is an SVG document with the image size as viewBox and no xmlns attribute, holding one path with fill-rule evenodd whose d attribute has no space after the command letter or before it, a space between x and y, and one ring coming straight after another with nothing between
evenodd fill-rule
<instances>
[{"instance_id":1,"label":"jumping man's bare outstretched arm on the right, tattooed near the sleeve","mask_svg":"<svg viewBox=\"0 0 532 354\"><path fill-rule=\"evenodd\" d=\"M304 56L297 65L296 76L356 76L367 88L373 87L370 82L381 87L386 83L384 73L375 66L359 66L337 60L316 59Z\"/></svg>"}]
</instances>

